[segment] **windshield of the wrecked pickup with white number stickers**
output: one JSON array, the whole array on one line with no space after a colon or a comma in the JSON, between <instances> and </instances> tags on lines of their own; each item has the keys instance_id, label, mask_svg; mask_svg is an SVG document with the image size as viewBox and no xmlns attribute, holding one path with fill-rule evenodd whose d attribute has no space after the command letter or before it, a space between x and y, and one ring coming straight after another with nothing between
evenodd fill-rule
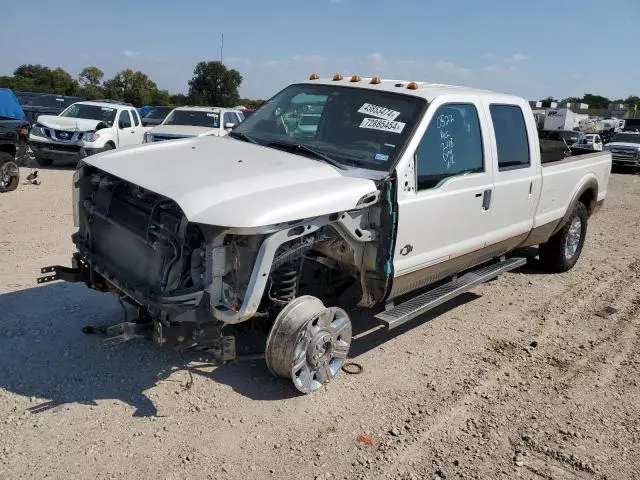
<instances>
[{"instance_id":1,"label":"windshield of the wrecked pickup with white number stickers","mask_svg":"<svg viewBox=\"0 0 640 480\"><path fill-rule=\"evenodd\" d=\"M388 170L425 104L419 97L368 88L291 85L232 133L267 146L302 145L343 165Z\"/></svg>"}]
</instances>

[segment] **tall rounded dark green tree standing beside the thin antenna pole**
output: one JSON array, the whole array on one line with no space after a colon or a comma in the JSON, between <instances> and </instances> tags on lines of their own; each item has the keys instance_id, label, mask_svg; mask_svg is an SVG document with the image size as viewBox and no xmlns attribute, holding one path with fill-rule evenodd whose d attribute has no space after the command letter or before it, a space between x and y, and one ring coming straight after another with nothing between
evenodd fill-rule
<instances>
[{"instance_id":1,"label":"tall rounded dark green tree standing beside the thin antenna pole","mask_svg":"<svg viewBox=\"0 0 640 480\"><path fill-rule=\"evenodd\" d=\"M232 107L240 99L238 87L242 75L221 62L200 62L189 80L189 97L196 104Z\"/></svg>"}]
</instances>

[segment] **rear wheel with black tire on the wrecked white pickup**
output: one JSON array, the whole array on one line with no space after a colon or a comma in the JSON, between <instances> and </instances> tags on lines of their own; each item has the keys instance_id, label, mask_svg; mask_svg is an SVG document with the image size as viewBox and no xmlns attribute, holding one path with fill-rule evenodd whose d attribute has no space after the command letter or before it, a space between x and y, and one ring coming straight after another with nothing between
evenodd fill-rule
<instances>
[{"instance_id":1,"label":"rear wheel with black tire on the wrecked white pickup","mask_svg":"<svg viewBox=\"0 0 640 480\"><path fill-rule=\"evenodd\" d=\"M552 272L566 272L573 268L584 246L589 214L584 203L578 202L562 229L547 243L540 245L540 261ZM577 235L580 235L579 238Z\"/></svg>"}]
</instances>

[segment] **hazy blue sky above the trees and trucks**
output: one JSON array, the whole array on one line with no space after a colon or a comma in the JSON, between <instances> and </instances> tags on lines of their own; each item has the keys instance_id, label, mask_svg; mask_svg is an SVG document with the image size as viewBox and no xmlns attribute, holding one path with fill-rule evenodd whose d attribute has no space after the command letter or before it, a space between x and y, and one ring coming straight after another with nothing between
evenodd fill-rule
<instances>
[{"instance_id":1,"label":"hazy blue sky above the trees and trucks","mask_svg":"<svg viewBox=\"0 0 640 480\"><path fill-rule=\"evenodd\" d=\"M7 1L0 75L132 68L186 92L197 62L220 60L224 34L248 98L317 72L615 99L640 95L639 25L640 0Z\"/></svg>"}]
</instances>

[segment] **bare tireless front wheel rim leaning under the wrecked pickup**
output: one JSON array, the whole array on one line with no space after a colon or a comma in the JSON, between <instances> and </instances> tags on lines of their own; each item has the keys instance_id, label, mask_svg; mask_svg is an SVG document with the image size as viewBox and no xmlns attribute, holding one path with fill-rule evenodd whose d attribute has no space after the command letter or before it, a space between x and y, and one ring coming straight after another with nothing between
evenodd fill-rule
<instances>
[{"instance_id":1,"label":"bare tireless front wheel rim leaning under the wrecked pickup","mask_svg":"<svg viewBox=\"0 0 640 480\"><path fill-rule=\"evenodd\" d=\"M274 375L289 378L302 393L329 383L351 346L351 320L341 308L316 297L296 298L276 317L265 359Z\"/></svg>"}]
</instances>

